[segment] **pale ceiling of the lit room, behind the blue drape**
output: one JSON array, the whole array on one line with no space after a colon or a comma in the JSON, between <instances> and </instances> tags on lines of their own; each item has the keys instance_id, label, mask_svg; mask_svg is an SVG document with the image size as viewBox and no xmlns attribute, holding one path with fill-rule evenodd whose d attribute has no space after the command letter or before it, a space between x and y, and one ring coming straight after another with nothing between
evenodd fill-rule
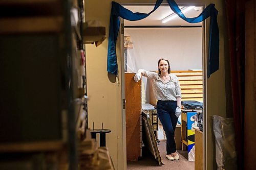
<instances>
[{"instance_id":1,"label":"pale ceiling of the lit room, behind the blue drape","mask_svg":"<svg viewBox=\"0 0 256 170\"><path fill-rule=\"evenodd\" d=\"M131 10L132 12L149 13L154 9L154 6L124 6L124 8ZM181 7L180 7L181 8ZM197 9L197 10L195 10ZM196 17L202 12L202 7L196 7L187 11L184 15L186 17ZM188 23L176 17L166 23L162 23L161 20L166 16L174 13L168 5L161 5L156 11L154 11L150 16L138 20L129 21L124 20L124 26L201 26L202 23Z\"/></svg>"}]
</instances>

